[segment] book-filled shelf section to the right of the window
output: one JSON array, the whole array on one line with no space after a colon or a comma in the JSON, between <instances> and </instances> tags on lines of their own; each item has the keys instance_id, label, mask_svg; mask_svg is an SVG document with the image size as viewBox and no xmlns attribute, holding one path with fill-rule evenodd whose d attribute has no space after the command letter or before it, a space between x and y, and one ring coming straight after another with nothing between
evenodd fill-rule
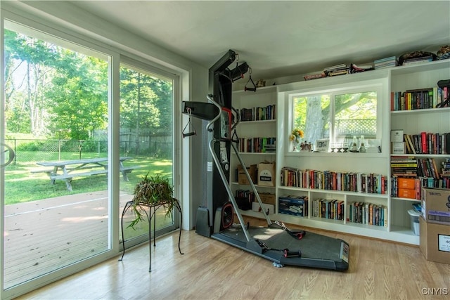
<instances>
[{"instance_id":1,"label":"book-filled shelf section to the right of the window","mask_svg":"<svg viewBox=\"0 0 450 300\"><path fill-rule=\"evenodd\" d=\"M396 153L390 157L394 231L409 228L411 217L407 211L413 208L414 203L420 202L424 187L444 185L439 166L450 157L445 149L445 139L450 133L450 107L437 107L444 101L444 90L437 87L437 81L449 78L450 60L394 68L390 72L391 95L397 93L400 98L406 96L407 99L404 110L392 109L391 106L390 112L391 129L404 132L406 152L405 155ZM426 101L420 102L420 96L426 99L425 90L428 104L423 105ZM406 174L392 167L392 162L401 159L409 160L405 162L410 169Z\"/></svg>"}]
</instances>

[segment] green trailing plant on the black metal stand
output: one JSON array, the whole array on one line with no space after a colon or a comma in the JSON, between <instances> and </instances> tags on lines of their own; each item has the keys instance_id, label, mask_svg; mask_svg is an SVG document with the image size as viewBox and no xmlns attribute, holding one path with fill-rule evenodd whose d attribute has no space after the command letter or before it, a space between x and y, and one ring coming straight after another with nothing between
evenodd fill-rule
<instances>
[{"instance_id":1,"label":"green trailing plant on the black metal stand","mask_svg":"<svg viewBox=\"0 0 450 300\"><path fill-rule=\"evenodd\" d=\"M179 202L173 197L173 194L174 188L170 185L168 178L162 178L159 174L148 176L147 173L134 188L131 209L136 218L128 227L134 228L137 223L143 221L143 216L146 214L143 207L165 207L166 217L172 217L174 207L180 209Z\"/></svg>"}]
</instances>

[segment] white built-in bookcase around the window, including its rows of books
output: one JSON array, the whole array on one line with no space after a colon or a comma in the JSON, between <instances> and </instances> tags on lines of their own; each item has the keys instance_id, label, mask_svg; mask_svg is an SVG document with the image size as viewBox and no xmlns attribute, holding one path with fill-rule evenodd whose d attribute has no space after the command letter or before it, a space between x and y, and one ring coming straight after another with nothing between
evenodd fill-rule
<instances>
[{"instance_id":1,"label":"white built-in bookcase around the window, including its rows of books","mask_svg":"<svg viewBox=\"0 0 450 300\"><path fill-rule=\"evenodd\" d=\"M276 152L242 153L245 164L257 164L264 160L276 161L276 185L272 188L257 186L259 193L276 195L275 213L270 216L271 219L311 228L418 244L419 237L411 230L408 210L413 208L413 204L420 202L420 193L415 191L414 197L411 198L399 197L398 191L397 194L394 193L399 184L394 179L413 178L414 184L420 185L421 188L430 184L442 186L450 184L447 183L450 173L450 155L446 154L448 152L442 144L446 139L446 133L450 133L450 108L432 108L442 101L442 96L439 100L439 97L434 94L437 91L437 81L449 78L450 60L440 60L420 65L391 67L347 76L271 86L262 90L263 96L258 96L260 91L234 92L233 106L235 107L267 107L273 104L276 107L274 120L241 122L238 126L240 138L276 138ZM289 111L292 110L289 104L290 94L342 89L358 84L383 86L379 97L379 109L382 114L378 138L380 138L381 152L292 152L288 150L290 148L289 122L291 122ZM430 88L433 94L430 93ZM394 109L392 101L396 92L397 96L406 92L415 93L416 100L419 99L416 106L413 106L411 98L411 107L406 106L411 109L405 109L405 107L403 110ZM425 94L428 96L428 102L425 102L427 99ZM428 104L425 105L425 103ZM405 145L404 152L393 153L390 133L398 129L410 136L412 143L414 143L414 135L422 138L425 133L426 151L416 145L415 153L411 148L410 153ZM419 141L421 145L422 141L417 142ZM410 159L411 162L401 162L401 159ZM231 155L232 168L237 167L236 160L236 157ZM424 174L431 171L425 166L431 164L434 167L435 165L439 181L432 176L394 174L392 167L399 167L395 164L401 163L416 164L417 167L420 165L421 172ZM397 171L399 169L395 169L396 173ZM443 174L445 176L442 176ZM428 177L433 178L433 181ZM340 178L339 183L338 178ZM416 178L421 181L417 183ZM411 182L409 181L409 184ZM401 184L406 183L401 182ZM231 185L234 186L234 190L246 188L245 185L238 185L236 180L232 180ZM243 214L262 217L261 213L251 210L243 211Z\"/></svg>"}]
</instances>

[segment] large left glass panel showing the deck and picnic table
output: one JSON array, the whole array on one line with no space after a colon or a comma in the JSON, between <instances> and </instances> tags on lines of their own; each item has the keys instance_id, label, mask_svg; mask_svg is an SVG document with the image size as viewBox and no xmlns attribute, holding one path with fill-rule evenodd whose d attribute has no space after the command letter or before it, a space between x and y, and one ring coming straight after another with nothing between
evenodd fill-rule
<instances>
[{"instance_id":1,"label":"large left glass panel showing the deck and picnic table","mask_svg":"<svg viewBox=\"0 0 450 300\"><path fill-rule=\"evenodd\" d=\"M111 249L110 58L10 21L4 53L8 289Z\"/></svg>"}]
</instances>

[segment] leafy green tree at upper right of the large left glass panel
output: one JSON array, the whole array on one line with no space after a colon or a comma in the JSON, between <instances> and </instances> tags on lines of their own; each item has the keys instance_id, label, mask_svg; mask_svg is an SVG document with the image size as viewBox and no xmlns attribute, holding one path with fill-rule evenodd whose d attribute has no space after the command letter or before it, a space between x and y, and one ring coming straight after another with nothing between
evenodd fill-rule
<instances>
[{"instance_id":1,"label":"leafy green tree at upper right of the large left glass panel","mask_svg":"<svg viewBox=\"0 0 450 300\"><path fill-rule=\"evenodd\" d=\"M72 139L91 138L108 126L108 62L60 49L53 89L46 89L54 134L65 129Z\"/></svg>"}]
</instances>

